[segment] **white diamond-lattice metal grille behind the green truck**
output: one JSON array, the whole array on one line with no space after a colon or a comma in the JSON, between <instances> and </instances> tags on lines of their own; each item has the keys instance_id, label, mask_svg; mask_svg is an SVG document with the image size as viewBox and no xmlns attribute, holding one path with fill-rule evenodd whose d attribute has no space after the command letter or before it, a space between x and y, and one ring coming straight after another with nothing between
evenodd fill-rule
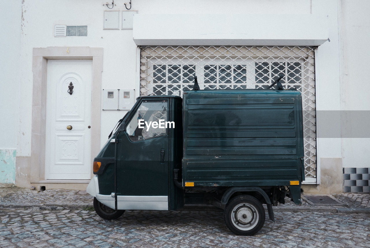
<instances>
[{"instance_id":1,"label":"white diamond-lattice metal grille behind the green truck","mask_svg":"<svg viewBox=\"0 0 370 248\"><path fill-rule=\"evenodd\" d=\"M140 95L181 96L192 89L194 76L201 89L263 89L284 74L283 87L302 93L306 181L316 182L314 73L314 47L146 46Z\"/></svg>"}]
</instances>

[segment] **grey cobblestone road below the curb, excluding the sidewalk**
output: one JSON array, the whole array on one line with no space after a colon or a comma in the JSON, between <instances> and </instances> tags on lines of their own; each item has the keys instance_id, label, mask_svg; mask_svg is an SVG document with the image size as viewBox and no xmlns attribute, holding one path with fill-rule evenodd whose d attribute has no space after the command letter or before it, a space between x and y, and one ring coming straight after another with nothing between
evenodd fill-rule
<instances>
[{"instance_id":1,"label":"grey cobblestone road below the curb, excluding the sidewalk","mask_svg":"<svg viewBox=\"0 0 370 248\"><path fill-rule=\"evenodd\" d=\"M0 210L0 247L370 247L369 214L278 212L252 237L229 231L220 211Z\"/></svg>"}]
</instances>

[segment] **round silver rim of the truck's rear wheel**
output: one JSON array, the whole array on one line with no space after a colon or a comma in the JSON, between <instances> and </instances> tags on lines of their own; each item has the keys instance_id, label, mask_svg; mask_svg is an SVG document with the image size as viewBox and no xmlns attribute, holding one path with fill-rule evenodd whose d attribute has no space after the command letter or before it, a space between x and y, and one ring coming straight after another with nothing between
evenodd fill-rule
<instances>
[{"instance_id":1,"label":"round silver rim of the truck's rear wheel","mask_svg":"<svg viewBox=\"0 0 370 248\"><path fill-rule=\"evenodd\" d=\"M240 203L231 211L232 224L243 231L253 229L258 224L259 218L257 208L249 203Z\"/></svg>"}]
</instances>

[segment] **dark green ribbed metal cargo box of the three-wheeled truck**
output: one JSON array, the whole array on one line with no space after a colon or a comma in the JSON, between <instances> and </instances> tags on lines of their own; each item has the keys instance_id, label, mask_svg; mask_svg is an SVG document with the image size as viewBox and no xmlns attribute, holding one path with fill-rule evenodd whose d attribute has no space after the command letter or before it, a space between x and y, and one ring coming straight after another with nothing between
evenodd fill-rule
<instances>
[{"instance_id":1,"label":"dark green ribbed metal cargo box of the three-wheeled truck","mask_svg":"<svg viewBox=\"0 0 370 248\"><path fill-rule=\"evenodd\" d=\"M298 180L302 102L295 90L184 93L184 182L279 185Z\"/></svg>"}]
</instances>

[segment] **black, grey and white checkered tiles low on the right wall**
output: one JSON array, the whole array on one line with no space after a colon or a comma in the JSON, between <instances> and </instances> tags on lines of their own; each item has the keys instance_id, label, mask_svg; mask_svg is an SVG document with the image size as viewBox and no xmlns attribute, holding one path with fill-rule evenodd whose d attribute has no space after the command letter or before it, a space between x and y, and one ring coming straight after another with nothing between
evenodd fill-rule
<instances>
[{"instance_id":1,"label":"black, grey and white checkered tiles low on the right wall","mask_svg":"<svg viewBox=\"0 0 370 248\"><path fill-rule=\"evenodd\" d=\"M370 168L343 168L343 192L370 193Z\"/></svg>"}]
</instances>

